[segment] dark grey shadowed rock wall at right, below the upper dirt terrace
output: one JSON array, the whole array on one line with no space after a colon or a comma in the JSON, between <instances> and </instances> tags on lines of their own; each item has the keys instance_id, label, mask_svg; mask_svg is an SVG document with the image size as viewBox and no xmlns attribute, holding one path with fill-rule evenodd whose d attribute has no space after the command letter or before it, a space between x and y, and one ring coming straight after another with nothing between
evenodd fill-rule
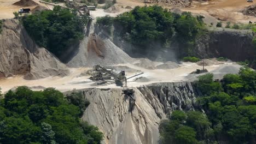
<instances>
[{"instance_id":1,"label":"dark grey shadowed rock wall at right, below the upper dirt terrace","mask_svg":"<svg viewBox=\"0 0 256 144\"><path fill-rule=\"evenodd\" d=\"M250 30L210 29L196 40L193 52L200 58L225 57L232 61L245 61L255 55L253 37L254 33Z\"/></svg>"}]
</instances>

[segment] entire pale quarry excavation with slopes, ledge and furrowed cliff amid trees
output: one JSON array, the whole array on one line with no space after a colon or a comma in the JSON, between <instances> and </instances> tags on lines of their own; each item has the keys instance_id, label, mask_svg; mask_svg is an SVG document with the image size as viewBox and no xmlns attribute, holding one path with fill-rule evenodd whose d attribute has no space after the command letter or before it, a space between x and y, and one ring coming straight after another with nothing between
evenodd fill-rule
<instances>
[{"instance_id":1,"label":"entire pale quarry excavation with slopes, ledge and furrowed cliff amid trees","mask_svg":"<svg viewBox=\"0 0 256 144\"><path fill-rule=\"evenodd\" d=\"M4 2L0 1L1 3ZM143 5L138 1L123 0L118 1L117 5L127 6L131 3ZM15 11L21 8L10 6L9 3L4 4L9 8L13 7ZM1 7L5 6L1 5ZM36 5L30 7L34 8ZM202 7L203 10L207 8ZM184 9L197 11L199 7ZM0 17L4 19L13 17L9 10L7 10L8 14L4 16L0 14ZM47 87L54 87L64 93L81 91L90 101L82 120L96 125L103 132L102 143L158 143L159 123L167 117L170 110L194 110L197 106L197 92L191 82L196 80L197 76L206 73L192 74L193 71L202 69L204 65L208 73L213 74L214 80L219 80L225 74L237 74L240 70L241 65L236 62L220 62L216 58L197 63L180 62L175 53L170 53L174 61L164 62L130 57L115 45L111 38L95 33L97 16L117 16L125 11L129 11L129 8L121 8L117 13L107 13L103 9L91 11L94 20L91 26L85 29L88 35L80 41L77 49L63 58L65 63L43 47L37 46L18 20L4 20L0 35L2 93L18 86L27 86L34 91L41 91ZM215 13L214 10L206 11L207 15ZM246 21L251 20L252 17L247 18ZM123 87L115 83L102 83L89 79L91 75L88 71L96 64L112 67L118 73L124 70L126 77L143 73L127 80L127 88L135 91L134 104L131 103L131 98L123 93Z\"/></svg>"}]
</instances>

